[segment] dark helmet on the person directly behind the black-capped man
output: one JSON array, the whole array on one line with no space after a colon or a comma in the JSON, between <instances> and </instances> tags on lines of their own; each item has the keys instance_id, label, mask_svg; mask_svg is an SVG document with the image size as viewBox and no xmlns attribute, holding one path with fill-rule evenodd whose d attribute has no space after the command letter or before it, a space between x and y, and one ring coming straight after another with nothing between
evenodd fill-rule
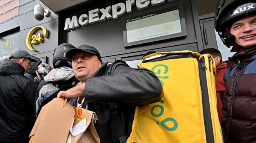
<instances>
[{"instance_id":1,"label":"dark helmet on the person directly behind the black-capped man","mask_svg":"<svg viewBox=\"0 0 256 143\"><path fill-rule=\"evenodd\" d=\"M65 57L68 50L76 48L69 43L62 43L53 52L53 68L67 66L72 68L72 61Z\"/></svg>"}]
</instances>

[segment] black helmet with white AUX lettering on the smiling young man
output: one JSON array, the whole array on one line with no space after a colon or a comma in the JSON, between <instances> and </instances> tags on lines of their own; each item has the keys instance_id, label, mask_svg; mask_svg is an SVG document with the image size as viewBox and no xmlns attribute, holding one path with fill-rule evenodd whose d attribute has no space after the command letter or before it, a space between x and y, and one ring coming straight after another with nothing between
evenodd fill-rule
<instances>
[{"instance_id":1,"label":"black helmet with white AUX lettering on the smiling young man","mask_svg":"<svg viewBox=\"0 0 256 143\"><path fill-rule=\"evenodd\" d=\"M232 24L244 16L255 13L255 0L219 0L215 11L214 25L222 42L227 47L233 46L235 42L235 37L229 32Z\"/></svg>"}]
</instances>

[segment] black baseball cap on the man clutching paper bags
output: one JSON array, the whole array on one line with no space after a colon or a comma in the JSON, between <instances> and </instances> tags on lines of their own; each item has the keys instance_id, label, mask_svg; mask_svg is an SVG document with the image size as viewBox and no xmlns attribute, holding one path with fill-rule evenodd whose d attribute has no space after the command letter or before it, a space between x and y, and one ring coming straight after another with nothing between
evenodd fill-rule
<instances>
[{"instance_id":1,"label":"black baseball cap on the man clutching paper bags","mask_svg":"<svg viewBox=\"0 0 256 143\"><path fill-rule=\"evenodd\" d=\"M88 53L94 54L98 57L99 61L102 62L100 52L93 46L84 45L84 44L78 46L77 48L72 48L72 49L68 50L65 56L68 59L72 59L73 55L76 54L77 52L88 52Z\"/></svg>"}]
</instances>

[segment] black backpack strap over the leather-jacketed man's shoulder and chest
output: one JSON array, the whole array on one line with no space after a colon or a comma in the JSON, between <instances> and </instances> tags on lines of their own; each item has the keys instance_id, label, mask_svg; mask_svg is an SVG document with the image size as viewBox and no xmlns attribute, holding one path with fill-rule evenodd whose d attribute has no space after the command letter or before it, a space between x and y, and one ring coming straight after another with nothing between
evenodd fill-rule
<instances>
[{"instance_id":1,"label":"black backpack strap over the leather-jacketed man's shoulder and chest","mask_svg":"<svg viewBox=\"0 0 256 143\"><path fill-rule=\"evenodd\" d=\"M114 69L116 66L124 65L128 66L122 60L116 60L109 65L107 75L112 75L114 73ZM118 114L118 104L117 103L108 103L109 109L111 112L111 132L112 132L112 139L115 143L125 143L127 138L125 137L124 127L122 125L120 116Z\"/></svg>"}]
</instances>

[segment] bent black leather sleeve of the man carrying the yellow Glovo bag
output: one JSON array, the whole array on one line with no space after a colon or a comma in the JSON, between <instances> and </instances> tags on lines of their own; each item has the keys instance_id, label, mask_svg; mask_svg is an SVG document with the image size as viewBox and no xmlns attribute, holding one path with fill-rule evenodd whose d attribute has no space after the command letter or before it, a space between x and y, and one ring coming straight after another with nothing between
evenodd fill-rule
<instances>
[{"instance_id":1,"label":"bent black leather sleeve of the man carrying the yellow Glovo bag","mask_svg":"<svg viewBox=\"0 0 256 143\"><path fill-rule=\"evenodd\" d=\"M89 78L85 83L84 95L87 102L145 105L159 101L163 88L152 71L120 65L113 75Z\"/></svg>"}]
</instances>

